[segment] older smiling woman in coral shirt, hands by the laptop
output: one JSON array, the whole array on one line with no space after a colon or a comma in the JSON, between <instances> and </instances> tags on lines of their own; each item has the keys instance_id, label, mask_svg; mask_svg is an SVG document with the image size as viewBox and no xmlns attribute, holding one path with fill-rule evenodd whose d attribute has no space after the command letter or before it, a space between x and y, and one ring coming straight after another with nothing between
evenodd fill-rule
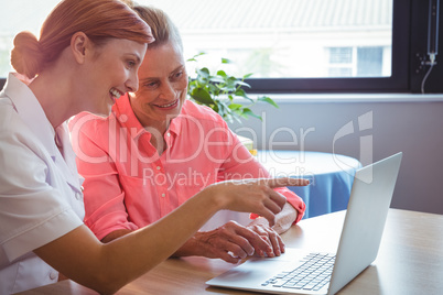
<instances>
[{"instance_id":1,"label":"older smiling woman in coral shirt, hands by the laptop","mask_svg":"<svg viewBox=\"0 0 443 295\"><path fill-rule=\"evenodd\" d=\"M122 96L108 118L82 113L69 124L85 177L85 223L105 242L156 221L207 185L269 177L217 113L186 100L182 41L168 15L133 9L155 39L139 70L139 90ZM174 255L231 263L252 253L280 255L278 232L299 221L305 205L288 188L275 190L288 203L273 229L262 218L247 227L228 222L197 232Z\"/></svg>"}]
</instances>

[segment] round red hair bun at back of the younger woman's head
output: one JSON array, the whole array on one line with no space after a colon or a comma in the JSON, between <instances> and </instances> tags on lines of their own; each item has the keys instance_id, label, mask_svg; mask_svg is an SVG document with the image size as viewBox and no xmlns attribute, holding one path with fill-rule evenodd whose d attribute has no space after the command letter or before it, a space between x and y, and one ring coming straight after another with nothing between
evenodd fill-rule
<instances>
[{"instance_id":1,"label":"round red hair bun at back of the younger woman's head","mask_svg":"<svg viewBox=\"0 0 443 295\"><path fill-rule=\"evenodd\" d=\"M14 37L11 65L19 73L32 79L41 70L43 54L40 43L31 32L21 32Z\"/></svg>"}]
</instances>

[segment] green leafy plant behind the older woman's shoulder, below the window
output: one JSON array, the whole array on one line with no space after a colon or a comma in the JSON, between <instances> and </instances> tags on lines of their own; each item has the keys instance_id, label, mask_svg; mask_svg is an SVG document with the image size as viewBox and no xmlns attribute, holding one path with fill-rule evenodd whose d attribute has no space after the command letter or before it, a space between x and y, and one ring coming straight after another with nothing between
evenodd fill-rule
<instances>
[{"instance_id":1,"label":"green leafy plant behind the older woman's shoulder, below the window","mask_svg":"<svg viewBox=\"0 0 443 295\"><path fill-rule=\"evenodd\" d=\"M203 54L197 54L187 61L196 62L196 58ZM229 59L222 58L222 64L229 63ZM249 119L250 117L262 120L260 116L251 110L251 107L258 101L263 101L278 108L278 105L268 96L248 97L245 88L250 88L250 85L245 83L245 79L252 76L252 74L235 77L222 69L213 74L207 67L197 67L195 72L197 76L195 78L190 77L188 97L198 105L212 108L227 122L241 122L241 119ZM252 141L239 135L238 138L253 153Z\"/></svg>"}]
</instances>

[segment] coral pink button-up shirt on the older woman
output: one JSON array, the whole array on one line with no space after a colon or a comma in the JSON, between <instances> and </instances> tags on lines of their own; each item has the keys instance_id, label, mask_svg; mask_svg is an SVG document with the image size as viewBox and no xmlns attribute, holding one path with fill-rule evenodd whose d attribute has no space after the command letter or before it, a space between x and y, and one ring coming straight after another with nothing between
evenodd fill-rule
<instances>
[{"instance_id":1,"label":"coral pink button-up shirt on the older woman","mask_svg":"<svg viewBox=\"0 0 443 295\"><path fill-rule=\"evenodd\" d=\"M85 177L85 223L100 240L154 222L213 183L269 177L222 117L190 100L164 135L140 124L127 95L108 118L84 112L69 128ZM161 155L151 136L164 136L168 149ZM277 190L296 209L298 222L303 200L288 188Z\"/></svg>"}]
</instances>

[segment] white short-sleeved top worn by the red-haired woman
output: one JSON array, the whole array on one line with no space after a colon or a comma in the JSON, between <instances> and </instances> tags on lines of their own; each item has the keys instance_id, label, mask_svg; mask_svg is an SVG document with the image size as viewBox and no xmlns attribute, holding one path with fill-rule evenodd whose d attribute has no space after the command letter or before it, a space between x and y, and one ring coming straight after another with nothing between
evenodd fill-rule
<instances>
[{"instance_id":1,"label":"white short-sleeved top worn by the red-haired woman","mask_svg":"<svg viewBox=\"0 0 443 295\"><path fill-rule=\"evenodd\" d=\"M0 294L56 282L58 273L32 251L83 225L67 134L66 124L54 131L31 89L9 74L0 92Z\"/></svg>"}]
</instances>

